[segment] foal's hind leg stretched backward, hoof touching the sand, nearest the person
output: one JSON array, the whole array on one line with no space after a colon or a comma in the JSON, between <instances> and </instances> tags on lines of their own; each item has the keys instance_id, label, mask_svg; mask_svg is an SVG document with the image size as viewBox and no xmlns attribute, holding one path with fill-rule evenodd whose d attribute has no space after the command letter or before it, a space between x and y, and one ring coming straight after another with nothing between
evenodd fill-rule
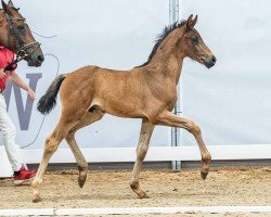
<instances>
[{"instance_id":1,"label":"foal's hind leg stretched backward, hoof touching the sand, nearest the person","mask_svg":"<svg viewBox=\"0 0 271 217\"><path fill-rule=\"evenodd\" d=\"M39 188L42 183L48 163L53 153L57 150L61 141L66 137L67 132L76 125L80 116L83 116L83 114L82 115L73 114L73 119L67 115L62 115L56 128L51 133L51 136L46 140L42 161L39 165L39 169L31 184L34 193L33 202L41 201L39 194Z\"/></svg>"}]
</instances>

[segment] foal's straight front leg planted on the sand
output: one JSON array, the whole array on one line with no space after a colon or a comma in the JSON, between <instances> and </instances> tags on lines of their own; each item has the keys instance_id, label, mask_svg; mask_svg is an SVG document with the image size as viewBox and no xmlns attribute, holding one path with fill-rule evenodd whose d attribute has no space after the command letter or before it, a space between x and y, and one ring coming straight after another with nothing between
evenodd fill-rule
<instances>
[{"instance_id":1,"label":"foal's straight front leg planted on the sand","mask_svg":"<svg viewBox=\"0 0 271 217\"><path fill-rule=\"evenodd\" d=\"M142 191L139 184L139 174L142 168L142 163L145 158L150 139L152 137L154 125L152 125L149 120L143 119L140 131L139 144L137 148L137 159L132 170L132 177L130 181L131 189L138 194L140 199L147 197L146 193Z\"/></svg>"}]
</instances>

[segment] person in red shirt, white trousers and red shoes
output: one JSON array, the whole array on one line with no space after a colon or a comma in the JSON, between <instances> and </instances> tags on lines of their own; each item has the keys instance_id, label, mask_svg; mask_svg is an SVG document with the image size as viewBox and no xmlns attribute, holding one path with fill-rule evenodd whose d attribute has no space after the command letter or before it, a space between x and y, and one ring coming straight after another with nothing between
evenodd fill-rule
<instances>
[{"instance_id":1,"label":"person in red shirt, white trousers and red shoes","mask_svg":"<svg viewBox=\"0 0 271 217\"><path fill-rule=\"evenodd\" d=\"M11 50L0 46L0 130L3 135L3 144L8 158L14 171L14 184L22 184L31 180L37 171L28 170L26 165L22 162L20 150L15 145L16 129L8 114L3 92L8 79L11 79L16 86L26 90L30 100L35 100L35 92L16 74L15 68L4 72L4 68L13 62L14 56L15 54Z\"/></svg>"}]
</instances>

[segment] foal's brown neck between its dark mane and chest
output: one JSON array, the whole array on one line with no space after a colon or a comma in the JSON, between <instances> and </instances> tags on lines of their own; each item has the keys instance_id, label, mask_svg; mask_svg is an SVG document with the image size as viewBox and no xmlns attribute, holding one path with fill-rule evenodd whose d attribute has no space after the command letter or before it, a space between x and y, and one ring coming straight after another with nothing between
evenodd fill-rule
<instances>
[{"instance_id":1,"label":"foal's brown neck between its dark mane and chest","mask_svg":"<svg viewBox=\"0 0 271 217\"><path fill-rule=\"evenodd\" d=\"M178 28L170 33L162 42L150 62L150 67L160 71L162 76L171 77L176 85L179 82L184 53L181 50L183 31Z\"/></svg>"}]
</instances>

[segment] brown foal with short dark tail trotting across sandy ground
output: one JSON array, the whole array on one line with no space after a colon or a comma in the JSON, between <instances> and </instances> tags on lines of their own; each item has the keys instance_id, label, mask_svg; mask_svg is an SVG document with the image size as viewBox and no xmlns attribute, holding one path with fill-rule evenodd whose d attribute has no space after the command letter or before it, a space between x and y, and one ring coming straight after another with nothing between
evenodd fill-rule
<instances>
[{"instance_id":1,"label":"brown foal with short dark tail trotting across sandy ground","mask_svg":"<svg viewBox=\"0 0 271 217\"><path fill-rule=\"evenodd\" d=\"M171 113L177 101L183 59L189 56L208 68L216 63L215 55L194 28L196 22L197 16L193 18L191 15L188 21L166 27L147 62L141 66L130 71L85 66L55 78L38 104L39 112L49 113L60 89L62 114L55 129L46 140L43 157L31 184L34 202L41 200L39 188L49 159L63 139L66 139L75 155L79 169L78 184L82 188L88 163L76 143L75 133L100 120L105 113L142 119L130 181L131 189L139 197L146 197L139 184L139 174L156 125L184 128L195 137L203 159L202 178L206 178L211 156L203 141L201 128L192 120Z\"/></svg>"}]
</instances>

